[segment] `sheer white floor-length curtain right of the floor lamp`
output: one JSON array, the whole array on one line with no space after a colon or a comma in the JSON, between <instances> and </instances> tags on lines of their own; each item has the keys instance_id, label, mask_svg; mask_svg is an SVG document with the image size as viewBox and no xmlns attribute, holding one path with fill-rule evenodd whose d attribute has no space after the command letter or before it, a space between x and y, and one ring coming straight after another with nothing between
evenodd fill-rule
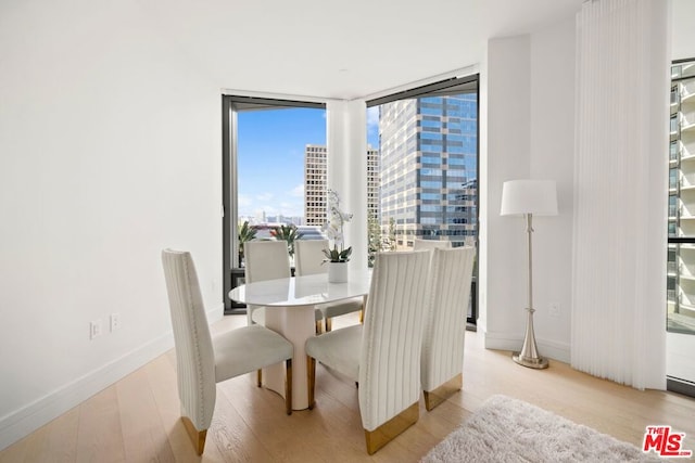
<instances>
[{"instance_id":1,"label":"sheer white floor-length curtain right of the floor lamp","mask_svg":"<svg viewBox=\"0 0 695 463\"><path fill-rule=\"evenodd\" d=\"M666 387L670 1L577 16L571 364Z\"/></svg>"}]
</instances>

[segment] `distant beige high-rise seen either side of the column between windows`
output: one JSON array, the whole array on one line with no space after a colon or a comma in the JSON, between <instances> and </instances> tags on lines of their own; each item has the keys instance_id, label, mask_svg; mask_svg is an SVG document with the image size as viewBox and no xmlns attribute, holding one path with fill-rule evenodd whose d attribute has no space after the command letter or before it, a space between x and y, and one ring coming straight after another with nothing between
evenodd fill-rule
<instances>
[{"instance_id":1,"label":"distant beige high-rise seen either side of the column between windows","mask_svg":"<svg viewBox=\"0 0 695 463\"><path fill-rule=\"evenodd\" d=\"M304 150L304 222L321 227L326 222L328 150L307 144ZM367 211L379 220L379 151L367 146Z\"/></svg>"}]
</instances>

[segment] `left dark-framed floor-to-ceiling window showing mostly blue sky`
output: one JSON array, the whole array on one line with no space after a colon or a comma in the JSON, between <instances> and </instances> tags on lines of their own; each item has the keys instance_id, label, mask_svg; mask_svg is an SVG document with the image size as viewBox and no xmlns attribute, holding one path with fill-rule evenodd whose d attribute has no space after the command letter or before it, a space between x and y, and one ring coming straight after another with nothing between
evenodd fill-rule
<instances>
[{"instance_id":1,"label":"left dark-framed floor-to-ceiling window showing mostly blue sky","mask_svg":"<svg viewBox=\"0 0 695 463\"><path fill-rule=\"evenodd\" d=\"M243 278L247 240L276 239L278 231L289 228L294 230L292 236L317 236L317 227L306 227L306 216L314 224L315 213L321 209L315 205L320 172L307 162L308 154L315 154L314 146L319 145L324 146L325 159L325 144L323 103L223 97L226 313L242 309L227 295Z\"/></svg>"}]
</instances>

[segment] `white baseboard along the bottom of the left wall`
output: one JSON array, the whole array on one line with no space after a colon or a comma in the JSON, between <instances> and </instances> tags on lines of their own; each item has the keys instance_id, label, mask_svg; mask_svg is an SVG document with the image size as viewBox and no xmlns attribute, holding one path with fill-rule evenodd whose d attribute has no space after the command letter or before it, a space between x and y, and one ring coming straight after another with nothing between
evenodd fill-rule
<instances>
[{"instance_id":1,"label":"white baseboard along the bottom of the left wall","mask_svg":"<svg viewBox=\"0 0 695 463\"><path fill-rule=\"evenodd\" d=\"M208 310L208 322L213 323L222 319L224 305L222 304ZM169 331L34 402L0 417L0 450L11 446L100 390L132 373L172 347L174 347L174 335Z\"/></svg>"}]
</instances>

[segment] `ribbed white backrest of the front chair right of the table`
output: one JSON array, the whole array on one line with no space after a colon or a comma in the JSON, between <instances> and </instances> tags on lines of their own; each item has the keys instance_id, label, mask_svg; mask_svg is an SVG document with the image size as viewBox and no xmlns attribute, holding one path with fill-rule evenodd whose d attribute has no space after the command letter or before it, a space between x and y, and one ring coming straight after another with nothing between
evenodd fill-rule
<instances>
[{"instance_id":1,"label":"ribbed white backrest of the front chair right of the table","mask_svg":"<svg viewBox=\"0 0 695 463\"><path fill-rule=\"evenodd\" d=\"M420 348L430 252L379 253L365 309L359 412L367 432L412 410L420 398ZM372 436L376 437L376 436Z\"/></svg>"}]
</instances>

